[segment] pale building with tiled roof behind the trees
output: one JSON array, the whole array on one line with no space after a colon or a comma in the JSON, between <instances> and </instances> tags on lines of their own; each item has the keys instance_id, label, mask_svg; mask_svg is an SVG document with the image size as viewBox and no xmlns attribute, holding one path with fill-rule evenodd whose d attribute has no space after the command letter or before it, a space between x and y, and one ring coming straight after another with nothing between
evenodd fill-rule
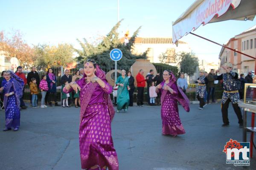
<instances>
[{"instance_id":1,"label":"pale building with tiled roof behind the trees","mask_svg":"<svg viewBox=\"0 0 256 170\"><path fill-rule=\"evenodd\" d=\"M128 38L130 39L130 37ZM124 37L120 39L124 42ZM167 64L175 65L177 61L174 60L174 55L178 52L185 51L191 52L189 45L186 42L179 41L179 46L177 47L172 43L171 37L136 37L133 53L143 54L143 52L148 50L148 59L150 62L160 63L159 56L168 51L170 54Z\"/></svg>"}]
</instances>

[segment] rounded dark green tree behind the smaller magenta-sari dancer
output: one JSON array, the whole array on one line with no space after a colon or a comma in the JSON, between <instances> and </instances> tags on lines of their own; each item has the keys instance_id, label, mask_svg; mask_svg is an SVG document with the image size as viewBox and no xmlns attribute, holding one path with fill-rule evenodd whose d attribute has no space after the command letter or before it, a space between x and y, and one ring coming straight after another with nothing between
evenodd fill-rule
<instances>
[{"instance_id":1,"label":"rounded dark green tree behind the smaller magenta-sari dancer","mask_svg":"<svg viewBox=\"0 0 256 170\"><path fill-rule=\"evenodd\" d=\"M199 64L198 58L194 53L181 52L176 54L176 58L180 61L180 72L186 73L189 76L192 76L195 73L196 67L198 67Z\"/></svg>"}]
</instances>

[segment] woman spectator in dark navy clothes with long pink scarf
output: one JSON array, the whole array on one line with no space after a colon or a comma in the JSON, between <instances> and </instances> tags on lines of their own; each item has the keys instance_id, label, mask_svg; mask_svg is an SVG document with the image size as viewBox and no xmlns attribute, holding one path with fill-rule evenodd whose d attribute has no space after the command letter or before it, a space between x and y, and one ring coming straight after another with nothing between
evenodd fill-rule
<instances>
[{"instance_id":1,"label":"woman spectator in dark navy clothes with long pink scarf","mask_svg":"<svg viewBox=\"0 0 256 170\"><path fill-rule=\"evenodd\" d=\"M58 102L57 102L57 89L56 89L57 78L56 78L52 68L49 68L47 71L46 81L48 83L47 93L48 93L49 106L52 107L52 100L54 100L55 106L60 106L60 105L58 105Z\"/></svg>"}]
</instances>

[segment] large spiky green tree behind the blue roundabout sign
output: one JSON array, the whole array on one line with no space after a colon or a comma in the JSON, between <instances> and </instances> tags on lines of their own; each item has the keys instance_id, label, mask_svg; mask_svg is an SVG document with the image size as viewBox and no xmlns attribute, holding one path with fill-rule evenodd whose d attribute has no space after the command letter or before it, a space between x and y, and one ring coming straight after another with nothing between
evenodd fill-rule
<instances>
[{"instance_id":1,"label":"large spiky green tree behind the blue roundabout sign","mask_svg":"<svg viewBox=\"0 0 256 170\"><path fill-rule=\"evenodd\" d=\"M111 31L97 45L89 43L86 39L84 39L84 42L78 40L82 49L75 49L75 51L79 54L77 60L83 63L86 59L90 58L94 59L99 65L114 65L115 62L109 57L110 51L113 48L119 48L123 54L122 59L117 62L118 65L130 66L135 62L135 59L146 59L147 51L141 55L131 53L132 45L134 44L135 38L137 37L141 27L134 32L128 44L125 45L122 44L118 38L117 29L119 28L121 22L122 20L116 23Z\"/></svg>"}]
</instances>

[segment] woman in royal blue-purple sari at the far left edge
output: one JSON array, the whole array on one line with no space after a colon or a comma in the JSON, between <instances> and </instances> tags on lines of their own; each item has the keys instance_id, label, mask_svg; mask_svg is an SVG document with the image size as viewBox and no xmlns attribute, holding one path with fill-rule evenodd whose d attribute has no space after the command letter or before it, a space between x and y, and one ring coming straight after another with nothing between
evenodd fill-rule
<instances>
[{"instance_id":1,"label":"woman in royal blue-purple sari at the far left edge","mask_svg":"<svg viewBox=\"0 0 256 170\"><path fill-rule=\"evenodd\" d=\"M12 71L3 74L2 92L4 94L4 108L6 114L6 128L3 131L19 130L20 127L20 97L23 94L24 82Z\"/></svg>"}]
</instances>

